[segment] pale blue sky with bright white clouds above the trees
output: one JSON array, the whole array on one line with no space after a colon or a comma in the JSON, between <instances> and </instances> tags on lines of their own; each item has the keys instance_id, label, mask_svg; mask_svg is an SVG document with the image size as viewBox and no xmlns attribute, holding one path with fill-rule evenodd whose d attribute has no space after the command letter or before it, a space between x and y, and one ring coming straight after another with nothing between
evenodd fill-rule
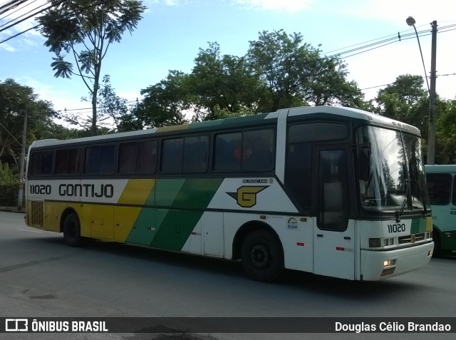
<instances>
[{"instance_id":1,"label":"pale blue sky with bright white clouds above the trees","mask_svg":"<svg viewBox=\"0 0 456 340\"><path fill-rule=\"evenodd\" d=\"M0 30L6 21L30 11L45 0L32 0L15 14L0 14ZM1 5L8 0L0 0ZM27 2L25 4L27 4ZM347 64L348 80L358 83L366 99L376 96L400 75L430 75L431 26L437 21L436 91L441 98L456 98L456 3L454 0L144 0L147 11L133 34L124 34L106 55L102 74L110 75L118 96L128 101L141 98L140 91L159 83L170 70L190 73L199 48L217 42L223 54L244 56L249 41L261 31L300 33L304 43L332 56L351 48L398 36L371 51L341 56ZM24 4L24 5L25 5ZM415 27L428 31L418 40L405 19L413 16ZM33 18L0 31L0 41L35 26ZM455 25L455 26L453 26ZM0 81L13 78L31 86L40 99L51 101L55 110L72 110L86 116L90 103L83 82L73 77L55 78L50 66L53 53L43 46L35 30L0 43ZM359 53L362 52L362 53ZM358 53L356 55L353 55ZM68 58L68 61L71 59ZM426 73L425 73L426 71ZM426 85L425 85L425 88Z\"/></svg>"}]
</instances>

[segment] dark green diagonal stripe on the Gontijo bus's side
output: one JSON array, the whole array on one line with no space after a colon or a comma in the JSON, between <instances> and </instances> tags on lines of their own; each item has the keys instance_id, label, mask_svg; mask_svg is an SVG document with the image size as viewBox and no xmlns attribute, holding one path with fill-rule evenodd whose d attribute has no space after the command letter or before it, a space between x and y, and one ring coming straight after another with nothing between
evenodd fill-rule
<instances>
[{"instance_id":1,"label":"dark green diagonal stripe on the Gontijo bus's side","mask_svg":"<svg viewBox=\"0 0 456 340\"><path fill-rule=\"evenodd\" d=\"M169 210L166 213L151 245L162 249L180 251L222 181L222 178L186 180L172 205L175 210ZM158 210L156 218L159 215L162 217L164 212L165 210Z\"/></svg>"}]
</instances>

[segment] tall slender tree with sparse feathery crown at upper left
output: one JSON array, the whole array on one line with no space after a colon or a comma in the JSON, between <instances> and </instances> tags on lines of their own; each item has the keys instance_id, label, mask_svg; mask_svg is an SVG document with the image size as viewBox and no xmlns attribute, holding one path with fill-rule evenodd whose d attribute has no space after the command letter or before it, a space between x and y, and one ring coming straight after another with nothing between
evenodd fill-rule
<instances>
[{"instance_id":1,"label":"tall slender tree with sparse feathery crown at upper left","mask_svg":"<svg viewBox=\"0 0 456 340\"><path fill-rule=\"evenodd\" d=\"M66 0L38 17L44 45L55 53L54 76L81 76L90 91L93 135L100 119L97 101L103 59L111 43L120 42L125 31L131 34L136 29L143 11L145 6L138 0ZM77 71L64 53L73 55Z\"/></svg>"}]
</instances>

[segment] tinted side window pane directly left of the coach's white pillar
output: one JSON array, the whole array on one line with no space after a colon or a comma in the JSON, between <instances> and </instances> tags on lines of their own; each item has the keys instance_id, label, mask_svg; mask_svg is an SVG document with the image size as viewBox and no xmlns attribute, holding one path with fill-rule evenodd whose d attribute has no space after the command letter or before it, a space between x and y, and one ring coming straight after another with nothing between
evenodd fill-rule
<instances>
[{"instance_id":1,"label":"tinted side window pane directly left of the coach's white pillar","mask_svg":"<svg viewBox=\"0 0 456 340\"><path fill-rule=\"evenodd\" d=\"M271 170L274 131L246 131L242 135L242 170Z\"/></svg>"}]
</instances>

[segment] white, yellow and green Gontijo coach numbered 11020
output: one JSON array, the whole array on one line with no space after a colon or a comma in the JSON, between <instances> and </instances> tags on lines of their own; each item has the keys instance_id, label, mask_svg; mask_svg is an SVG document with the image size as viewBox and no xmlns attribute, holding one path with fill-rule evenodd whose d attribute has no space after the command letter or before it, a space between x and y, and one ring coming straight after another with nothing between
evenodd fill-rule
<instances>
[{"instance_id":1,"label":"white, yellow and green Gontijo coach numbered 11020","mask_svg":"<svg viewBox=\"0 0 456 340\"><path fill-rule=\"evenodd\" d=\"M26 224L81 238L373 281L425 266L432 219L420 130L336 106L28 150Z\"/></svg>"}]
</instances>

